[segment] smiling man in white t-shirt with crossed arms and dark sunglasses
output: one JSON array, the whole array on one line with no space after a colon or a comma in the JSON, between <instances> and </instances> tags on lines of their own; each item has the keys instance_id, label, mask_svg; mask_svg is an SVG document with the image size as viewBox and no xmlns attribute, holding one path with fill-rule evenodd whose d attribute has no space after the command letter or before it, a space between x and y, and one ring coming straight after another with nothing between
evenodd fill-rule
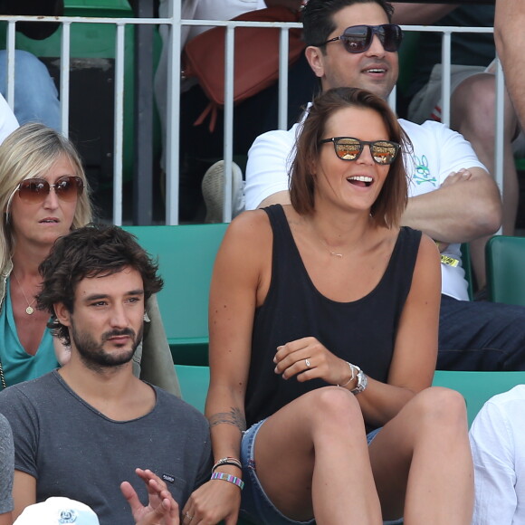
<instances>
[{"instance_id":1,"label":"smiling man in white t-shirt with crossed arms and dark sunglasses","mask_svg":"<svg viewBox=\"0 0 525 525\"><path fill-rule=\"evenodd\" d=\"M353 86L387 98L397 81L401 30L383 0L310 0L304 10L306 57L323 90ZM501 224L498 189L470 144L443 124L400 124L409 199L402 224L423 230L442 252L440 369L525 369L525 308L468 301L460 243ZM287 204L288 168L301 123L263 134L250 149L246 207Z\"/></svg>"}]
</instances>

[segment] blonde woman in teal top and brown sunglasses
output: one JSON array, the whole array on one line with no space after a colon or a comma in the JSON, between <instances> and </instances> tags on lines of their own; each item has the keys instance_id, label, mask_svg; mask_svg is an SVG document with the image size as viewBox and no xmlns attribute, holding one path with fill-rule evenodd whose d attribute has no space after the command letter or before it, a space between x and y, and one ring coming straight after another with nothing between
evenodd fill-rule
<instances>
[{"instance_id":1,"label":"blonde woman in teal top and brown sunglasses","mask_svg":"<svg viewBox=\"0 0 525 525\"><path fill-rule=\"evenodd\" d=\"M69 349L46 328L35 308L38 265L52 244L91 223L88 181L72 143L42 124L26 124L0 146L0 384L2 388L58 367ZM148 360L159 387L180 395L157 301L148 304L150 329L135 356L135 372Z\"/></svg>"}]
</instances>

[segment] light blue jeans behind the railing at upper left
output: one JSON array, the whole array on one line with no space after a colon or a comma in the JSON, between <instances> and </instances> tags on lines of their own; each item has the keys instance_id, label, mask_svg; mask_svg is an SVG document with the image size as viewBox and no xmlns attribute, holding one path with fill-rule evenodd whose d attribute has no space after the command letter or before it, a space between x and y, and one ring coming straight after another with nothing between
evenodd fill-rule
<instances>
[{"instance_id":1,"label":"light blue jeans behind the railing at upper left","mask_svg":"<svg viewBox=\"0 0 525 525\"><path fill-rule=\"evenodd\" d=\"M7 99L7 52L0 51L0 92ZM14 52L14 116L20 125L42 122L60 131L58 91L47 67L32 53Z\"/></svg>"}]
</instances>

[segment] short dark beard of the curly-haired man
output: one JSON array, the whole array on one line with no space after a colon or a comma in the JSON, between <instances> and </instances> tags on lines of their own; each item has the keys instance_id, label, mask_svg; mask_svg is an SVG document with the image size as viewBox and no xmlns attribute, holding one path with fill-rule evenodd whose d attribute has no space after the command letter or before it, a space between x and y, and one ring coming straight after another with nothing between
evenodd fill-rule
<instances>
[{"instance_id":1,"label":"short dark beard of the curly-haired man","mask_svg":"<svg viewBox=\"0 0 525 525\"><path fill-rule=\"evenodd\" d=\"M112 367L120 367L129 363L135 355L138 345L142 341L144 327L141 326L136 334L133 329L114 329L104 332L100 341L94 339L91 334L77 330L72 323L72 342L79 352L84 365L94 371L102 371ZM104 343L115 336L129 336L131 348L120 348L108 352L104 349Z\"/></svg>"}]
</instances>

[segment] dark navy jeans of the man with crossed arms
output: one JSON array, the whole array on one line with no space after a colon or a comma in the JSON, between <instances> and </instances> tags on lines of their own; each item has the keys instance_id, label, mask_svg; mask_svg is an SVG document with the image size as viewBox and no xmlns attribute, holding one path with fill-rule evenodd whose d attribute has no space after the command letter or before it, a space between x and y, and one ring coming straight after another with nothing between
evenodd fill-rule
<instances>
[{"instance_id":1,"label":"dark navy jeans of the man with crossed arms","mask_svg":"<svg viewBox=\"0 0 525 525\"><path fill-rule=\"evenodd\" d=\"M525 307L441 296L438 370L525 370Z\"/></svg>"}]
</instances>

